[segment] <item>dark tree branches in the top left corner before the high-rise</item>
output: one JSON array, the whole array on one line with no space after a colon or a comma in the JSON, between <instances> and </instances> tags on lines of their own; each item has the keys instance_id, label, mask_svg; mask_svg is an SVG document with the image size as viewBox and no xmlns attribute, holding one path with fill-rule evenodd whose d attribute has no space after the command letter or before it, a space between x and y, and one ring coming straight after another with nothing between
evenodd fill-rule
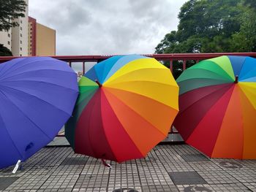
<instances>
[{"instance_id":1,"label":"dark tree branches in the top left corner before the high-rise","mask_svg":"<svg viewBox=\"0 0 256 192\"><path fill-rule=\"evenodd\" d=\"M23 0L0 0L0 31L18 26L15 18L24 17L26 2Z\"/></svg>"}]
</instances>

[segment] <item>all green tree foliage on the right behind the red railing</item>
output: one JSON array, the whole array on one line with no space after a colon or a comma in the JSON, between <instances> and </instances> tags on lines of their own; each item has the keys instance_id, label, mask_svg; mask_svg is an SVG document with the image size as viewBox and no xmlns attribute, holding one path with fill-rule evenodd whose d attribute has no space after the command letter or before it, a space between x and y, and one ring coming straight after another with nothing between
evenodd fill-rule
<instances>
[{"instance_id":1,"label":"all green tree foliage on the right behind the red railing","mask_svg":"<svg viewBox=\"0 0 256 192\"><path fill-rule=\"evenodd\" d=\"M255 0L189 0L178 18L178 30L166 34L155 53L256 51ZM181 72L182 62L174 61L174 77Z\"/></svg>"}]
</instances>

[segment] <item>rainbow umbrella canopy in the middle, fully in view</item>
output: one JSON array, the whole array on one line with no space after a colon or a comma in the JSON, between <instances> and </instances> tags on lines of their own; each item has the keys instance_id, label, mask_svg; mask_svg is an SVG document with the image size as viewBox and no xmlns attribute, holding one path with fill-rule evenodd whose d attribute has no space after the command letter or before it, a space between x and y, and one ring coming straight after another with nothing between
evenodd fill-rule
<instances>
[{"instance_id":1,"label":"rainbow umbrella canopy in the middle, fully in view","mask_svg":"<svg viewBox=\"0 0 256 192\"><path fill-rule=\"evenodd\" d=\"M178 85L154 58L114 56L80 79L65 134L75 153L113 161L144 157L178 113Z\"/></svg>"}]
</instances>

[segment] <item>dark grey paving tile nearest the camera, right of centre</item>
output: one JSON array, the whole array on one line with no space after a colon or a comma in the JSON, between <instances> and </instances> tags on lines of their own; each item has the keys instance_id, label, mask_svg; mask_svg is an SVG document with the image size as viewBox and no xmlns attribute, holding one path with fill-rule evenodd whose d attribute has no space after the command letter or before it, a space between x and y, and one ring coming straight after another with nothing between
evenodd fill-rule
<instances>
[{"instance_id":1,"label":"dark grey paving tile nearest the camera, right of centre","mask_svg":"<svg viewBox=\"0 0 256 192\"><path fill-rule=\"evenodd\" d=\"M176 185L206 184L197 172L169 172L169 175Z\"/></svg>"}]
</instances>

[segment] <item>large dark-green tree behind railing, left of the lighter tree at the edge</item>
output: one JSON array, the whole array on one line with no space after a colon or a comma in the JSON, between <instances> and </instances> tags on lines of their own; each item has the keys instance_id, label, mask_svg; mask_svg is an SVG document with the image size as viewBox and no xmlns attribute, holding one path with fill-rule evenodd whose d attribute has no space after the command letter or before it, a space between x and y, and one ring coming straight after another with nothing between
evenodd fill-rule
<instances>
[{"instance_id":1,"label":"large dark-green tree behind railing, left of the lighter tree at the edge","mask_svg":"<svg viewBox=\"0 0 256 192\"><path fill-rule=\"evenodd\" d=\"M166 34L156 53L228 52L241 29L242 1L187 1L178 14L178 31Z\"/></svg>"}]
</instances>

